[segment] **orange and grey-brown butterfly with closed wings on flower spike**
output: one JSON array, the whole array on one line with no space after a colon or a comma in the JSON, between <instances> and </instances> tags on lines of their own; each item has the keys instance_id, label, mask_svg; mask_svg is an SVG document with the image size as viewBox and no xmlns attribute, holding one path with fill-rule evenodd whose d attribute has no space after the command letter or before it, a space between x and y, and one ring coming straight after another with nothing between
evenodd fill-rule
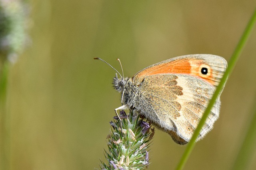
<instances>
[{"instance_id":1,"label":"orange and grey-brown butterfly with closed wings on flower spike","mask_svg":"<svg viewBox=\"0 0 256 170\"><path fill-rule=\"evenodd\" d=\"M133 77L117 74L114 88L121 93L122 106L134 108L172 139L181 145L188 143L196 129L227 62L209 54L174 57L153 64ZM220 95L200 131L196 141L213 128L220 112Z\"/></svg>"}]
</instances>

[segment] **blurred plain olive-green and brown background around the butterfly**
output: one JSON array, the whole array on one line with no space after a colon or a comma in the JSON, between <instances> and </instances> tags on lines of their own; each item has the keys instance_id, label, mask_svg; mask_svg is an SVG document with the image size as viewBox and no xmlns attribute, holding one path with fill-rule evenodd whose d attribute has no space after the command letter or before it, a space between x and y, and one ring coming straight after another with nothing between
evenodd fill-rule
<instances>
[{"instance_id":1,"label":"blurred plain olive-green and brown background around the butterfly","mask_svg":"<svg viewBox=\"0 0 256 170\"><path fill-rule=\"evenodd\" d=\"M105 161L120 94L112 88L114 70L93 57L118 70L120 58L125 76L186 54L228 61L256 6L255 0L28 3L30 41L8 83L13 170L90 170ZM186 170L232 167L256 102L255 64L254 27L222 93L220 118L196 144ZM156 129L149 168L174 169L184 149ZM255 169L256 161L248 168Z\"/></svg>"}]
</instances>

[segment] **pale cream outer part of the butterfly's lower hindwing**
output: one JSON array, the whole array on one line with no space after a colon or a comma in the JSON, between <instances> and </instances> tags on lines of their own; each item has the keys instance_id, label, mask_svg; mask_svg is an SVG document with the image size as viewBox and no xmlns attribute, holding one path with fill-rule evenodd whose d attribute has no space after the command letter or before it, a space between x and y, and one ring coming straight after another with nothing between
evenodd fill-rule
<instances>
[{"instance_id":1,"label":"pale cream outer part of the butterfly's lower hindwing","mask_svg":"<svg viewBox=\"0 0 256 170\"><path fill-rule=\"evenodd\" d=\"M183 131L187 135L185 138L190 140L216 88L200 78L184 74L177 76L177 85L183 88L183 95L178 96L178 102L183 106L181 109L183 117L181 117L180 123L184 119L189 123L186 128L180 129L180 131ZM202 139L213 128L214 122L219 117L219 112L220 98L216 100L212 107L197 140Z\"/></svg>"}]
</instances>

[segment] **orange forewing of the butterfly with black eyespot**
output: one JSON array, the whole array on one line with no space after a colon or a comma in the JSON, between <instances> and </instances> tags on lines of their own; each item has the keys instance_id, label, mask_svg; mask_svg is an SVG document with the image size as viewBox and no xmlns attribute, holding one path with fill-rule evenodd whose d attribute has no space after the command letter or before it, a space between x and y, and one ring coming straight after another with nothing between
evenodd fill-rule
<instances>
[{"instance_id":1,"label":"orange forewing of the butterfly with black eyespot","mask_svg":"<svg viewBox=\"0 0 256 170\"><path fill-rule=\"evenodd\" d=\"M226 60L217 55L184 55L144 68L134 75L133 82L139 84L144 77L156 74L189 74L218 86L226 67ZM207 74L201 74L202 68L207 68Z\"/></svg>"}]
</instances>

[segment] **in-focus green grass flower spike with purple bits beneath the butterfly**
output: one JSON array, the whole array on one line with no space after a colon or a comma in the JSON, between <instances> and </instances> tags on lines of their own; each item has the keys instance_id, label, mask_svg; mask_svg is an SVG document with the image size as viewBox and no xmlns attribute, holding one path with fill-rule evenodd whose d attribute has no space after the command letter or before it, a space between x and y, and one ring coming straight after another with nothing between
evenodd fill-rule
<instances>
[{"instance_id":1,"label":"in-focus green grass flower spike with purple bits beneath the butterfly","mask_svg":"<svg viewBox=\"0 0 256 170\"><path fill-rule=\"evenodd\" d=\"M122 128L118 117L111 121L110 135L108 135L108 150L105 157L108 163L101 161L102 170L143 170L149 165L150 140L154 129L143 121L135 110L130 109L126 115L120 111Z\"/></svg>"}]
</instances>

